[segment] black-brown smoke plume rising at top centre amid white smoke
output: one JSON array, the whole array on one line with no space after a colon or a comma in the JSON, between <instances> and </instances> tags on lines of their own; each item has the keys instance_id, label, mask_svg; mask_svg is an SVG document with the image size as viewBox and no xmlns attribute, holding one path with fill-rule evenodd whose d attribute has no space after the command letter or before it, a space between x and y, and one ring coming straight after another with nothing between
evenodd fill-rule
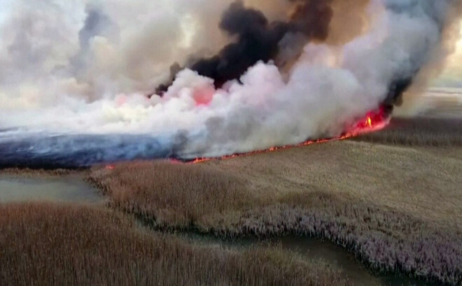
<instances>
[{"instance_id":1,"label":"black-brown smoke plume rising at top centre amid white smoke","mask_svg":"<svg viewBox=\"0 0 462 286\"><path fill-rule=\"evenodd\" d=\"M246 8L242 1L232 3L223 13L220 28L237 40L214 57L192 61L188 68L212 78L215 86L221 87L229 80L238 79L257 62L276 59L280 52L279 43L289 34L302 34L304 43L312 39L325 40L333 16L332 1L289 1L295 3L295 10L287 22L269 22L260 10ZM180 70L177 64L172 66L171 82L161 85L156 92L165 92Z\"/></svg>"}]
</instances>

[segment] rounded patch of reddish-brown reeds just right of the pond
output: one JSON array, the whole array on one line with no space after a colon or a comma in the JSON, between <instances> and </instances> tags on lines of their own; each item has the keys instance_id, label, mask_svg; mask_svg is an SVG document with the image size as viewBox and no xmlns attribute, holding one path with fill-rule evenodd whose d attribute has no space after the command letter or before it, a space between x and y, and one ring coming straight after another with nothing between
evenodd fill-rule
<instances>
[{"instance_id":1,"label":"rounded patch of reddish-brown reeds just right of the pond","mask_svg":"<svg viewBox=\"0 0 462 286\"><path fill-rule=\"evenodd\" d=\"M247 208L255 197L236 176L208 166L133 162L94 168L90 181L111 204L160 227L187 228L211 214Z\"/></svg>"}]
</instances>

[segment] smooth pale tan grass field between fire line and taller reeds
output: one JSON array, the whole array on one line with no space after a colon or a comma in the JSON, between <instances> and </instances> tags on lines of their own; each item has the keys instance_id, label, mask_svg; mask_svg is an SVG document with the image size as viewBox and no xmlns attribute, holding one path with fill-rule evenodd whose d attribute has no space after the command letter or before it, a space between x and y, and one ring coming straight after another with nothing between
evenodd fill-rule
<instances>
[{"instance_id":1,"label":"smooth pale tan grass field between fire line and taller reeds","mask_svg":"<svg viewBox=\"0 0 462 286\"><path fill-rule=\"evenodd\" d=\"M337 141L205 164L246 180L258 196L338 194L461 227L462 158L431 149Z\"/></svg>"}]
</instances>

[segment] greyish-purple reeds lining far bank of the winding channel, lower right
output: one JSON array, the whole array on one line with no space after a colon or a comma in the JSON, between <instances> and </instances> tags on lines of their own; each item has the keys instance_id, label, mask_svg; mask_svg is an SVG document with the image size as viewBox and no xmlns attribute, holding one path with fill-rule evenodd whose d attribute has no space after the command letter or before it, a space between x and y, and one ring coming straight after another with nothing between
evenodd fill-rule
<instances>
[{"instance_id":1,"label":"greyish-purple reeds lining far bank of the winding channel, lower right","mask_svg":"<svg viewBox=\"0 0 462 286\"><path fill-rule=\"evenodd\" d=\"M200 229L237 238L300 235L332 241L379 273L462 283L462 233L435 229L410 215L322 193L289 194L239 217L216 217Z\"/></svg>"}]
</instances>

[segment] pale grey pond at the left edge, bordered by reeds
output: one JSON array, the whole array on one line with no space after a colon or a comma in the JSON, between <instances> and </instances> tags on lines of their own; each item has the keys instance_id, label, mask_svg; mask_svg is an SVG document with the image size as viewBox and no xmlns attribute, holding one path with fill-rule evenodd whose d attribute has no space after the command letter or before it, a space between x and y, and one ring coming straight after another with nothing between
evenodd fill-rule
<instances>
[{"instance_id":1,"label":"pale grey pond at the left edge, bordered by reeds","mask_svg":"<svg viewBox=\"0 0 462 286\"><path fill-rule=\"evenodd\" d=\"M18 178L0 176L0 203L53 201L99 203L102 196L77 176L57 178Z\"/></svg>"}]
</instances>

